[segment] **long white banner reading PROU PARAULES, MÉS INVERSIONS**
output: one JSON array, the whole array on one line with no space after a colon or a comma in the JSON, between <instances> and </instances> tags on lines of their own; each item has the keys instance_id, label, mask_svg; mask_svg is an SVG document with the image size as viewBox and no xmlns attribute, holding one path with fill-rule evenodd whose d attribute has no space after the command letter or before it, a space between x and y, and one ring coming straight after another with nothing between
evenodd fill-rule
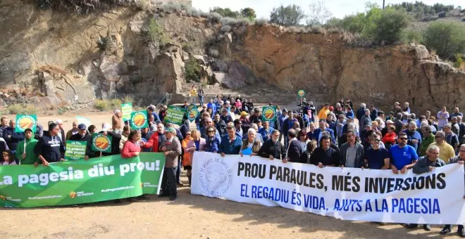
<instances>
[{"instance_id":1,"label":"long white banner reading PROU PARAULES, M\u00c9S INVERSIONS","mask_svg":"<svg viewBox=\"0 0 465 239\"><path fill-rule=\"evenodd\" d=\"M195 152L194 195L285 207L342 220L464 224L464 167L426 174L318 168L263 157Z\"/></svg>"}]
</instances>

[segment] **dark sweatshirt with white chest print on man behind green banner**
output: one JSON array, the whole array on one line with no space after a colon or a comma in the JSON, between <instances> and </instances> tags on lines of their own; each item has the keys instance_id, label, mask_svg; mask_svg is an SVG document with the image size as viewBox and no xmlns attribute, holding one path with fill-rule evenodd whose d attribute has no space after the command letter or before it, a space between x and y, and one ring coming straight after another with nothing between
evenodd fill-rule
<instances>
[{"instance_id":1,"label":"dark sweatshirt with white chest print on man behind green banner","mask_svg":"<svg viewBox=\"0 0 465 239\"><path fill-rule=\"evenodd\" d=\"M60 162L65 155L65 147L58 136L42 136L35 145L34 153L42 155L47 162Z\"/></svg>"}]
</instances>

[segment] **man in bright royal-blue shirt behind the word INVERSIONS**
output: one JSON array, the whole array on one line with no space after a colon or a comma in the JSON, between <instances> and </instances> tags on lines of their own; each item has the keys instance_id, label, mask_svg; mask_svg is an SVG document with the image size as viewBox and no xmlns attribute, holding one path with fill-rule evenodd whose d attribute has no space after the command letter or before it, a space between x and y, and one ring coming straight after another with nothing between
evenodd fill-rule
<instances>
[{"instance_id":1,"label":"man in bright royal-blue shirt behind the word INVERSIONS","mask_svg":"<svg viewBox=\"0 0 465 239\"><path fill-rule=\"evenodd\" d=\"M415 166L416 160L419 156L416 154L416 150L412 146L407 145L407 134L400 132L397 137L397 143L390 148L391 156L391 169L394 174L404 174L407 169L411 169Z\"/></svg>"}]
</instances>

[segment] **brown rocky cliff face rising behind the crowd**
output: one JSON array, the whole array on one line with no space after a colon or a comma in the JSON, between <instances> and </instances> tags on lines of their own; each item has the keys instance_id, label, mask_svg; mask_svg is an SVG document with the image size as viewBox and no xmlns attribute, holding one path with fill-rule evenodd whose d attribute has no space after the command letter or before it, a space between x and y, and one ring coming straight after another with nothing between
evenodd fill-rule
<instances>
[{"instance_id":1,"label":"brown rocky cliff face rising behind the crowd","mask_svg":"<svg viewBox=\"0 0 465 239\"><path fill-rule=\"evenodd\" d=\"M135 8L76 16L2 1L0 15L2 91L27 92L45 104L75 96L154 101L166 92L185 93L182 67L195 58L211 93L221 93L220 86L241 92L268 85L289 97L305 89L307 99L320 103L349 97L382 106L409 101L415 110L465 107L465 73L436 61L423 46L354 48L342 34L296 34L244 22L222 27L182 12ZM168 44L144 41L150 19ZM109 48L100 51L104 38Z\"/></svg>"}]
</instances>

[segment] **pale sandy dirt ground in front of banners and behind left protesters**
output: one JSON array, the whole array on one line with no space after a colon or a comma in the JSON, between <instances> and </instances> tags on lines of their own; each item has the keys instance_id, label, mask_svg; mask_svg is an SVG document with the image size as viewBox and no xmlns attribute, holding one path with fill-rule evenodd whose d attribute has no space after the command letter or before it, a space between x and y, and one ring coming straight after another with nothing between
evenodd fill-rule
<instances>
[{"instance_id":1,"label":"pale sandy dirt ground in front of banners and behind left protesters","mask_svg":"<svg viewBox=\"0 0 465 239\"><path fill-rule=\"evenodd\" d=\"M82 115L86 116L86 115ZM39 122L60 118L70 129L74 115L39 116ZM111 113L88 116L98 129ZM185 172L182 181L187 182ZM190 195L179 188L178 200L150 195L149 200L99 202L78 207L1 208L0 238L426 238L430 232L399 224L380 226L341 221L278 207L247 205ZM457 227L454 227L457 230ZM458 238L451 233L445 238Z\"/></svg>"}]
</instances>

